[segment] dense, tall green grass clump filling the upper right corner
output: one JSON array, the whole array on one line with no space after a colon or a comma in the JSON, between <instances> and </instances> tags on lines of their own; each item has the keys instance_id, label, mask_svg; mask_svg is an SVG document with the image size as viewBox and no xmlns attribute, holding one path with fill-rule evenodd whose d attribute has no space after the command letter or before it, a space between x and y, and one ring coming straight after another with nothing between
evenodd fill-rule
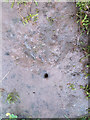
<instances>
[{"instance_id":1,"label":"dense, tall green grass clump filling the upper right corner","mask_svg":"<svg viewBox=\"0 0 90 120\"><path fill-rule=\"evenodd\" d=\"M77 2L76 7L77 12L77 23L80 23L80 28L83 32L87 34L90 33L90 1L88 2Z\"/></svg>"}]
</instances>

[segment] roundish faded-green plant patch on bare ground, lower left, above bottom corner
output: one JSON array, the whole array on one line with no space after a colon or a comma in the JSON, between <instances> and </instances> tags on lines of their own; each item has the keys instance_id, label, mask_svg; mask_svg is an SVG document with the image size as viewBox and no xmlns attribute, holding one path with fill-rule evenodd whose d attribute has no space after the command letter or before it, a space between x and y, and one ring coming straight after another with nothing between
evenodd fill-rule
<instances>
[{"instance_id":1,"label":"roundish faded-green plant patch on bare ground, lower left, above bottom corner","mask_svg":"<svg viewBox=\"0 0 90 120\"><path fill-rule=\"evenodd\" d=\"M18 100L19 95L16 92L16 90L14 89L13 92L8 93L7 99L6 101L11 104L11 103L15 103Z\"/></svg>"}]
</instances>

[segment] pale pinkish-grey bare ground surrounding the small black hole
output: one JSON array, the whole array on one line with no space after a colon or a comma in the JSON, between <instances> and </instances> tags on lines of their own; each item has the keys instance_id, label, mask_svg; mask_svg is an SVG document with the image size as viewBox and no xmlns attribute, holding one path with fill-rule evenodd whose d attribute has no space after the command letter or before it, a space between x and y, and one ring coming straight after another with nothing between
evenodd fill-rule
<instances>
[{"instance_id":1,"label":"pale pinkish-grey bare ground surrounding the small black hole","mask_svg":"<svg viewBox=\"0 0 90 120\"><path fill-rule=\"evenodd\" d=\"M28 5L29 6L29 5ZM22 6L23 8L23 6ZM30 13L26 7L22 14ZM85 85L84 54L79 50L75 3L39 3L31 5L31 13L39 9L36 23L25 26L17 6L3 3L3 76L1 117L10 112L19 117L70 118L87 113L88 101L79 85ZM53 23L47 17L54 19ZM84 37L85 38L85 37ZM48 73L48 78L44 74ZM74 84L76 90L69 88ZM5 102L7 94L16 89L20 96L15 104Z\"/></svg>"}]
</instances>

